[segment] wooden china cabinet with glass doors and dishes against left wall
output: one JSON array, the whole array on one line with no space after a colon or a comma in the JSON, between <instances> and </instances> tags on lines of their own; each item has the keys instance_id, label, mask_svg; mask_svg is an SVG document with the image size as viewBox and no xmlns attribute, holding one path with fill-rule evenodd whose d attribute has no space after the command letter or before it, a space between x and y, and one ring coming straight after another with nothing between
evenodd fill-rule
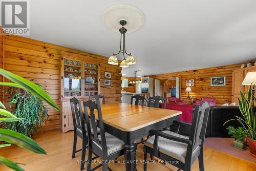
<instances>
[{"instance_id":1,"label":"wooden china cabinet with glass doors and dishes against left wall","mask_svg":"<svg viewBox=\"0 0 256 171\"><path fill-rule=\"evenodd\" d=\"M60 59L61 89L61 130L73 130L70 99L89 100L90 96L100 94L100 65L87 57L70 56L62 53Z\"/></svg>"}]
</instances>

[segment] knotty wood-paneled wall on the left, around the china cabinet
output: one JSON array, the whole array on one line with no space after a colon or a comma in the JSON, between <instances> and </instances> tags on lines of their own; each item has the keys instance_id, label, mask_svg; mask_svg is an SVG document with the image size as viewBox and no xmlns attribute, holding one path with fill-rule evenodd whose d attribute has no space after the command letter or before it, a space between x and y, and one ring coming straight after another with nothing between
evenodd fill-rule
<instances>
[{"instance_id":1,"label":"knotty wood-paneled wall on the left, around the china cabinet","mask_svg":"<svg viewBox=\"0 0 256 171\"><path fill-rule=\"evenodd\" d=\"M0 40L1 41L1 40ZM120 102L121 96L121 68L108 65L108 58L67 47L50 44L26 37L4 36L4 68L27 79L36 79L42 84L52 99L60 106L60 56L61 52L69 52L88 56L100 62L101 65L101 94L107 102ZM104 86L104 71L112 72L111 86ZM10 98L5 97L8 104ZM44 131L60 128L60 114L49 107L49 121L46 121Z\"/></svg>"}]
</instances>

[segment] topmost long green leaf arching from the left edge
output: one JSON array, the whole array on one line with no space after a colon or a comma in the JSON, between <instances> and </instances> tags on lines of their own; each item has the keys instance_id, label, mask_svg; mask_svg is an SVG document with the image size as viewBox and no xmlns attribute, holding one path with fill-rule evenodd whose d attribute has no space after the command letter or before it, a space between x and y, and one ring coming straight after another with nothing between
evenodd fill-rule
<instances>
[{"instance_id":1,"label":"topmost long green leaf arching from the left edge","mask_svg":"<svg viewBox=\"0 0 256 171\"><path fill-rule=\"evenodd\" d=\"M0 69L0 74L2 74L3 76L5 76L6 78L8 78L9 80L11 80L14 83L19 84L20 87L26 89L27 91L31 92L32 94L34 94L36 97L40 98L41 100L46 101L48 104L50 104L51 106L53 106L56 110L59 111L59 108L57 106L57 104L51 99L51 97L43 90L41 89L39 86L37 86L35 83L19 76L16 74L13 74L9 71Z\"/></svg>"}]
</instances>

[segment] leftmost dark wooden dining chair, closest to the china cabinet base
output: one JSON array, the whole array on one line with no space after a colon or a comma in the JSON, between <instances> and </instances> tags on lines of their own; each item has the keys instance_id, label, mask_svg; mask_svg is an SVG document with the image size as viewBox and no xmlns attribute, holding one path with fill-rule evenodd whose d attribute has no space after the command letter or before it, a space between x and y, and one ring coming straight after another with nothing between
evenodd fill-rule
<instances>
[{"instance_id":1,"label":"leftmost dark wooden dining chair, closest to the china cabinet base","mask_svg":"<svg viewBox=\"0 0 256 171\"><path fill-rule=\"evenodd\" d=\"M86 157L86 148L88 147L87 141L87 129L86 123L84 122L84 117L82 113L82 106L80 100L77 98L70 99L71 105L71 113L73 118L73 125L74 125L74 141L73 141L73 151L72 151L72 158L75 158L75 154L77 152L82 151L81 161L84 161ZM82 148L76 150L77 144L77 137L82 139ZM81 162L80 170L84 168L84 162Z\"/></svg>"}]
</instances>

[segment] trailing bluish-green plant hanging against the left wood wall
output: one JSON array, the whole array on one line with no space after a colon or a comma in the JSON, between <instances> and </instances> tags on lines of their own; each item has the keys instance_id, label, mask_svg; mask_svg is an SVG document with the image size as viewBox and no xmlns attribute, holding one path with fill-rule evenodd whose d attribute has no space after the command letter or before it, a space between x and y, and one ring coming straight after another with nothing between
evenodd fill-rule
<instances>
[{"instance_id":1,"label":"trailing bluish-green plant hanging against the left wood wall","mask_svg":"<svg viewBox=\"0 0 256 171\"><path fill-rule=\"evenodd\" d=\"M24 89L11 90L10 112L25 119L20 122L6 122L4 127L31 137L34 131L38 131L41 123L48 119L47 107L41 99Z\"/></svg>"}]
</instances>

